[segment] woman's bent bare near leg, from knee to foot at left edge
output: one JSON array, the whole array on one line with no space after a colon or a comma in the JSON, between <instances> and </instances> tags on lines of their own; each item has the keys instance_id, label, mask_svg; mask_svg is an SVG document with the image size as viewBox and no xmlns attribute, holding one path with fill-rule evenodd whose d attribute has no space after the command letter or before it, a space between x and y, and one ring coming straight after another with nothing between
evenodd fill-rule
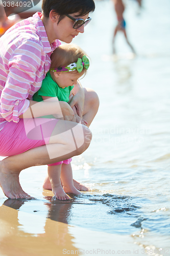
<instances>
[{"instance_id":1,"label":"woman's bent bare near leg, from knee to foot at left edge","mask_svg":"<svg viewBox=\"0 0 170 256\"><path fill-rule=\"evenodd\" d=\"M91 141L90 130L75 122L59 120L49 144L32 148L0 162L0 185L8 198L31 198L19 183L21 170L35 165L59 162L82 154Z\"/></svg>"}]
</instances>

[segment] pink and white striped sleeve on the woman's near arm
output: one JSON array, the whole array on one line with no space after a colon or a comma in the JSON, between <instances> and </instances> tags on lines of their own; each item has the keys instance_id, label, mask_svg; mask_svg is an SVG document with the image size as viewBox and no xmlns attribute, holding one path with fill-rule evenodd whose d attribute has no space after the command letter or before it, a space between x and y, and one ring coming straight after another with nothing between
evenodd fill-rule
<instances>
[{"instance_id":1,"label":"pink and white striped sleeve on the woman's near arm","mask_svg":"<svg viewBox=\"0 0 170 256\"><path fill-rule=\"evenodd\" d=\"M8 62L9 73L1 95L0 114L7 121L19 121L29 108L28 95L36 73L42 68L42 46L39 41L26 40L13 51Z\"/></svg>"}]
</instances>

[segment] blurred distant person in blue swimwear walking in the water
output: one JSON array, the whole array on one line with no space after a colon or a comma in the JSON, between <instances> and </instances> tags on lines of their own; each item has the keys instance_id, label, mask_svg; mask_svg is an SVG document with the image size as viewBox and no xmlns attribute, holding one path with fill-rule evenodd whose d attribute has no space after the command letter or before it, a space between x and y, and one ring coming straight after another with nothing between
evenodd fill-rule
<instances>
[{"instance_id":1,"label":"blurred distant person in blue swimwear walking in the water","mask_svg":"<svg viewBox=\"0 0 170 256\"><path fill-rule=\"evenodd\" d=\"M124 19L124 11L125 11L125 6L122 0L112 0L113 4L114 4L114 9L116 12L116 16L117 16L117 20L118 20L118 24L116 25L115 29L114 29L114 34L113 34L113 53L115 54L115 37L118 31L122 31L125 35L125 39L127 41L127 44L129 45L129 47L131 48L132 52L135 53L135 50L133 48L133 46L130 44L129 39L127 37L127 33L126 33L126 22Z\"/></svg>"}]
</instances>

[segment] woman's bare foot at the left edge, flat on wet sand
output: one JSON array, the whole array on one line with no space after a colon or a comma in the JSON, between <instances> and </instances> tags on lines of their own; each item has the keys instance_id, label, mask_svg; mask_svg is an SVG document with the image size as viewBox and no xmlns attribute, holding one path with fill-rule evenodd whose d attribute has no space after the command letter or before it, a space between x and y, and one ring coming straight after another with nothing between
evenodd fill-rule
<instances>
[{"instance_id":1,"label":"woman's bare foot at the left edge, flat on wet sand","mask_svg":"<svg viewBox=\"0 0 170 256\"><path fill-rule=\"evenodd\" d=\"M30 195L25 193L19 183L19 174L6 170L0 162L0 186L6 197L10 199L32 199Z\"/></svg>"}]
</instances>

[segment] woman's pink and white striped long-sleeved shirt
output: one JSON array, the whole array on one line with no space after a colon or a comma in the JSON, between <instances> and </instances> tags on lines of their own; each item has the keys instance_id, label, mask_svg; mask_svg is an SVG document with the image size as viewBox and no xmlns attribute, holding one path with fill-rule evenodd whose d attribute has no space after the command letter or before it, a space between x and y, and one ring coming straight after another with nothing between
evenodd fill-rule
<instances>
[{"instance_id":1,"label":"woman's pink and white striped long-sleeved shirt","mask_svg":"<svg viewBox=\"0 0 170 256\"><path fill-rule=\"evenodd\" d=\"M0 38L0 131L28 109L28 99L41 87L50 56L61 44L56 40L50 45L41 16L35 13Z\"/></svg>"}]
</instances>

